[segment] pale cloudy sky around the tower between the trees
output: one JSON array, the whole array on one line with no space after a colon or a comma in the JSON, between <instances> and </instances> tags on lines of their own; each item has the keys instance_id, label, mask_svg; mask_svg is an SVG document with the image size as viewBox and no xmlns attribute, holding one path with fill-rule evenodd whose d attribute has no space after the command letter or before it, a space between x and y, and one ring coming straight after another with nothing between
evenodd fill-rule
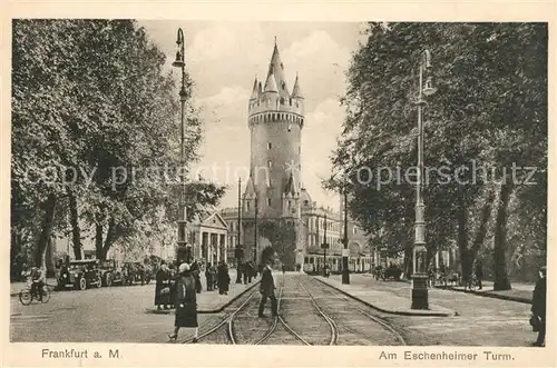
<instances>
[{"instance_id":1,"label":"pale cloudy sky around the tower between the trees","mask_svg":"<svg viewBox=\"0 0 557 368\"><path fill-rule=\"evenodd\" d=\"M186 69L195 82L195 105L202 108L204 141L198 166L208 180L229 186L222 207L237 202L234 172L243 182L248 175L247 102L255 74L266 77L276 37L287 87L292 90L297 72L305 95L304 187L317 203L338 208L338 197L321 188L321 179L331 172L329 157L345 115L339 98L351 54L362 40L362 23L155 20L139 24L167 53L168 67L175 59L177 29L184 30ZM173 73L179 76L177 69Z\"/></svg>"}]
</instances>

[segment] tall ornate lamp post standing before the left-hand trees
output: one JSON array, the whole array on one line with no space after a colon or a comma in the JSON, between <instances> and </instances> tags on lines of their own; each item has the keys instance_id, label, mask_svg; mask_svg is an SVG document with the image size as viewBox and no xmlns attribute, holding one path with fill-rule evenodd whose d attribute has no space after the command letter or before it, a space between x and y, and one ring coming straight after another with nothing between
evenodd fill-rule
<instances>
[{"instance_id":1,"label":"tall ornate lamp post standing before the left-hand trees","mask_svg":"<svg viewBox=\"0 0 557 368\"><path fill-rule=\"evenodd\" d=\"M185 120L185 105L187 99L186 92L186 52L185 52L185 40L184 32L182 28L178 28L178 37L176 40L177 51L176 60L173 62L173 67L182 69L182 88L179 90L179 101L182 105L180 113L180 146L179 146L179 163L180 163L180 191L179 191L179 215L178 215L178 249L177 261L189 262L192 260L192 249L187 246L186 238L186 226L187 226L187 206L186 206L186 182L185 182L185 157L184 157L184 120Z\"/></svg>"}]
</instances>

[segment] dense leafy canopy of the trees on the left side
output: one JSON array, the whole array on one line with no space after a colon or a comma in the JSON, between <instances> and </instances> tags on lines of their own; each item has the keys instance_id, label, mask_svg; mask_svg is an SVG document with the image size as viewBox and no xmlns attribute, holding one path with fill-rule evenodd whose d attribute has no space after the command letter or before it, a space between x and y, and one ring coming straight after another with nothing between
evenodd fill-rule
<instances>
[{"instance_id":1,"label":"dense leafy canopy of the trees on the left side","mask_svg":"<svg viewBox=\"0 0 557 368\"><path fill-rule=\"evenodd\" d=\"M12 27L12 246L35 242L41 262L52 236L71 233L79 257L87 229L97 258L138 237L174 239L180 102L165 54L131 20ZM187 171L202 122L185 82ZM194 216L224 188L195 180L186 191Z\"/></svg>"}]
</instances>

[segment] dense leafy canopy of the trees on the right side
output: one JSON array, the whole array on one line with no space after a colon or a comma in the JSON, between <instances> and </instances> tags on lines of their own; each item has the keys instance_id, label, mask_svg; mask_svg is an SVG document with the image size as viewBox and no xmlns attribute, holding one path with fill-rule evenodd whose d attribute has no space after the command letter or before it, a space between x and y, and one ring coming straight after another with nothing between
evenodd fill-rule
<instances>
[{"instance_id":1,"label":"dense leafy canopy of the trees on the right side","mask_svg":"<svg viewBox=\"0 0 557 368\"><path fill-rule=\"evenodd\" d=\"M423 81L438 89L423 109L429 253L456 241L465 276L478 252L489 255L496 288L510 288L509 242L528 233L530 247L546 247L547 24L372 22L367 37L348 71L348 118L332 155L350 177L350 211L375 243L411 257L427 49Z\"/></svg>"}]
</instances>

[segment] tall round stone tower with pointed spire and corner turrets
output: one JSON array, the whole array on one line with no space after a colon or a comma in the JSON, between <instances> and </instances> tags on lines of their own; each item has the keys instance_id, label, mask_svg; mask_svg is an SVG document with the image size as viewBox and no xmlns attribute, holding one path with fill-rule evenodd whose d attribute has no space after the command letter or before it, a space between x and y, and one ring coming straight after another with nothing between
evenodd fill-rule
<instances>
[{"instance_id":1,"label":"tall round stone tower with pointed spire and corner turrets","mask_svg":"<svg viewBox=\"0 0 557 368\"><path fill-rule=\"evenodd\" d=\"M297 74L289 90L276 40L262 81L255 78L247 106L251 175L244 191L244 218L253 218L257 198L258 219L290 219L299 226L304 97ZM252 231L246 223L244 243L252 242ZM266 246L260 242L258 249Z\"/></svg>"}]
</instances>

